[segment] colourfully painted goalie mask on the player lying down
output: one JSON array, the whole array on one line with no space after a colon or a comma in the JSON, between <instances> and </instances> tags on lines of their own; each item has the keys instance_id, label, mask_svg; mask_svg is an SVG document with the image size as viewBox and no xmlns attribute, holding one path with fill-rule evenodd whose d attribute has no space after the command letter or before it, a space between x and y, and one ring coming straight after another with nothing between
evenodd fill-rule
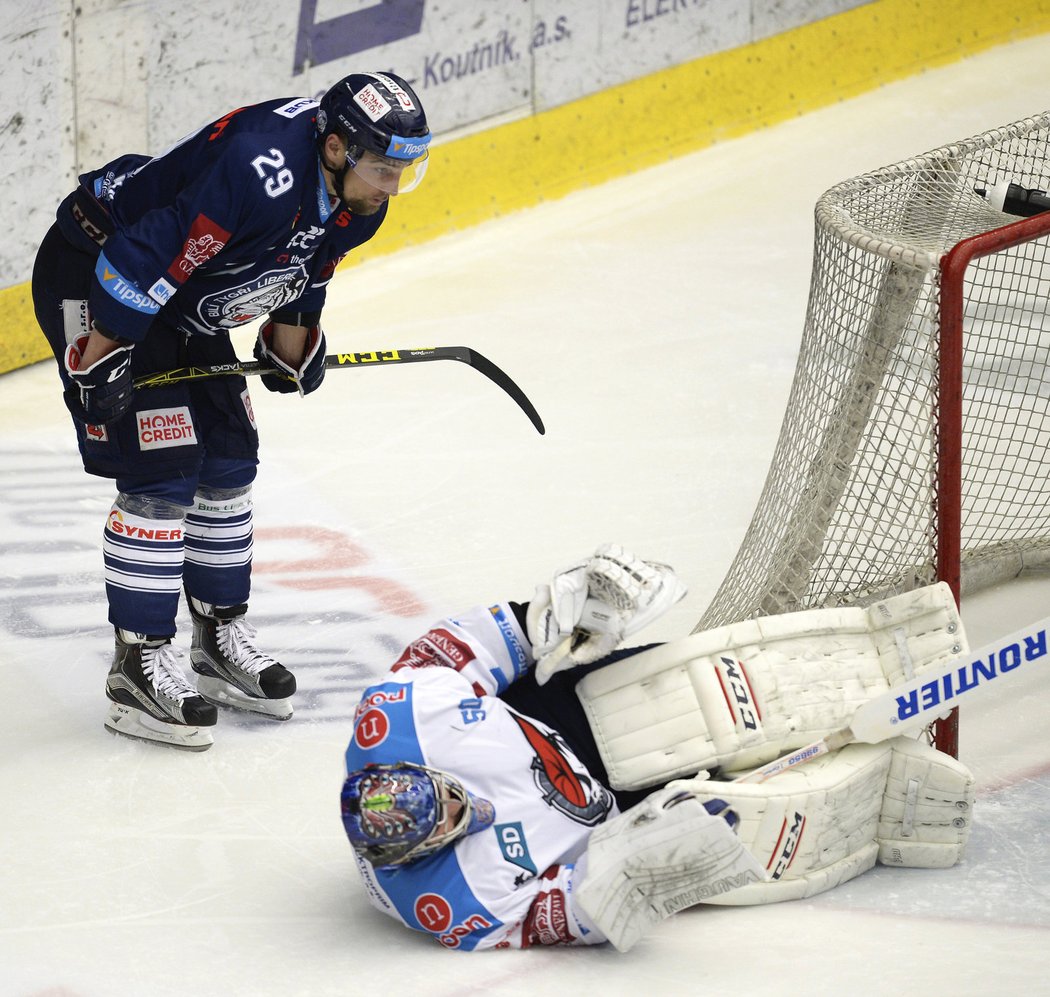
<instances>
[{"instance_id":1,"label":"colourfully painted goalie mask on the player lying down","mask_svg":"<svg viewBox=\"0 0 1050 997\"><path fill-rule=\"evenodd\" d=\"M429 855L494 820L491 803L424 765L369 765L348 776L342 786L346 836L379 869Z\"/></svg>"}]
</instances>

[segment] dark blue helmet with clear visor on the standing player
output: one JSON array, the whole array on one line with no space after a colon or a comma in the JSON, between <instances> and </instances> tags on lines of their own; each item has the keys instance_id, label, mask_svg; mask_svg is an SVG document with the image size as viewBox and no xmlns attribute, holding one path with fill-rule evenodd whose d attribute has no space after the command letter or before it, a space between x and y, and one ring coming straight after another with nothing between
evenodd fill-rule
<instances>
[{"instance_id":1,"label":"dark blue helmet with clear visor on the standing player","mask_svg":"<svg viewBox=\"0 0 1050 997\"><path fill-rule=\"evenodd\" d=\"M321 98L316 121L318 143L333 132L344 139L348 169L379 189L406 194L422 181L430 145L426 113L393 72L344 77Z\"/></svg>"}]
</instances>

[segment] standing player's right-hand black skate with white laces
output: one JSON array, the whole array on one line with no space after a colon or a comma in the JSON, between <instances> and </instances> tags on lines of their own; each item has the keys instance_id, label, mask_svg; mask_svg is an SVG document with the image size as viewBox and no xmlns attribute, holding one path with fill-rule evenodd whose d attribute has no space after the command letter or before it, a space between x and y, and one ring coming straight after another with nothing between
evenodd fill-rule
<instances>
[{"instance_id":1,"label":"standing player's right-hand black skate with white laces","mask_svg":"<svg viewBox=\"0 0 1050 997\"><path fill-rule=\"evenodd\" d=\"M197 674L197 692L217 706L288 720L295 676L255 646L255 629L245 621L248 607L217 607L192 596L188 601L193 618L190 664Z\"/></svg>"}]
</instances>

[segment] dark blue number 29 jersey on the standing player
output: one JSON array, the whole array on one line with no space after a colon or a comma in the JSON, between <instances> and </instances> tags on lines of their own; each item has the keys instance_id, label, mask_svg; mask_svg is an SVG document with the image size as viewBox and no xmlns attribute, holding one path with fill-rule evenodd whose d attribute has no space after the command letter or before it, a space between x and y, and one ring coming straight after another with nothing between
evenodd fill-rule
<instances>
[{"instance_id":1,"label":"dark blue number 29 jersey on the standing player","mask_svg":"<svg viewBox=\"0 0 1050 997\"><path fill-rule=\"evenodd\" d=\"M375 235L374 215L333 210L315 143L317 102L231 111L154 158L125 155L80 177L114 232L89 307L138 342L160 315L213 334L264 315L315 324L336 264Z\"/></svg>"}]
</instances>

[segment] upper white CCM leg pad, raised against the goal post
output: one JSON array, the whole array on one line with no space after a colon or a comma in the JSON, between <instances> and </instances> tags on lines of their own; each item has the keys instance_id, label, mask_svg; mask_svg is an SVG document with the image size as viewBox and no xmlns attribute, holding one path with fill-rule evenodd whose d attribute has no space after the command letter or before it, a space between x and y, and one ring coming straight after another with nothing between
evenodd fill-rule
<instances>
[{"instance_id":1,"label":"upper white CCM leg pad, raised against the goal post","mask_svg":"<svg viewBox=\"0 0 1050 997\"><path fill-rule=\"evenodd\" d=\"M968 650L947 585L693 634L576 685L617 789L749 768L844 726L874 696Z\"/></svg>"}]
</instances>

